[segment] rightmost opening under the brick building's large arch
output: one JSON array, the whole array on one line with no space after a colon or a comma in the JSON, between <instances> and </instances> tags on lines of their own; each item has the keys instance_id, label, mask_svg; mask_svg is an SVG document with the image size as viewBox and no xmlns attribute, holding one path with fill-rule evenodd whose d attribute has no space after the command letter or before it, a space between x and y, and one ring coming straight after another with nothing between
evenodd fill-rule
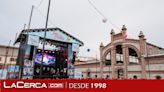
<instances>
[{"instance_id":1,"label":"rightmost opening under the brick building's large arch","mask_svg":"<svg viewBox=\"0 0 164 92\"><path fill-rule=\"evenodd\" d=\"M138 55L136 51L132 48L129 48L129 64L138 64Z\"/></svg>"}]
</instances>

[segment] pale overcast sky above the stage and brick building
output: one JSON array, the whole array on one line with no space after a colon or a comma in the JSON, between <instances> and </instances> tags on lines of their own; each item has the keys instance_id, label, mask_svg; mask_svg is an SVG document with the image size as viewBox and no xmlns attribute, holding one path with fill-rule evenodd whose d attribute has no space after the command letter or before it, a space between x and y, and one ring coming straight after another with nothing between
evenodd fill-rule
<instances>
[{"instance_id":1,"label":"pale overcast sky above the stage and brick building","mask_svg":"<svg viewBox=\"0 0 164 92\"><path fill-rule=\"evenodd\" d=\"M28 24L35 6L31 28L44 28L48 0L0 0L0 44L8 45ZM48 27L59 27L84 42L80 56L99 56L99 45L110 43L110 31L126 25L129 38L138 39L140 31L148 42L164 47L164 0L51 0ZM111 24L112 22L112 24ZM27 26L26 26L27 28ZM90 52L87 52L87 49Z\"/></svg>"}]
</instances>

